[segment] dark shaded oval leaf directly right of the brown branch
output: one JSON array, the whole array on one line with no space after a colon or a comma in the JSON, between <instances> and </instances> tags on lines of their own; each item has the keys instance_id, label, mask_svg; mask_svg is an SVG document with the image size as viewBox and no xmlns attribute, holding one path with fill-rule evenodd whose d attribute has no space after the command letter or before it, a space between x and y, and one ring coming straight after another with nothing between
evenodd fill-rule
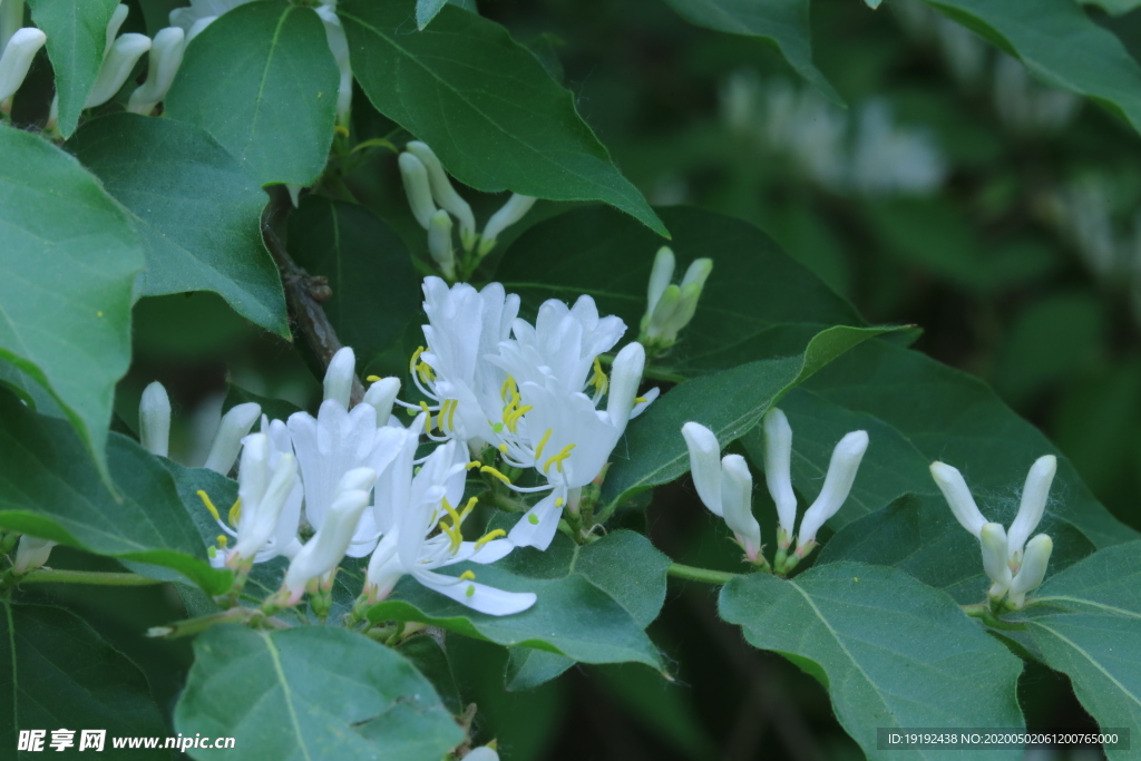
<instances>
[{"instance_id":1,"label":"dark shaded oval leaf directly right of the brown branch","mask_svg":"<svg viewBox=\"0 0 1141 761\"><path fill-rule=\"evenodd\" d=\"M361 367L404 335L420 308L420 283L404 242L379 217L307 196L290 217L289 249L310 275L329 278L333 296L322 306Z\"/></svg>"}]
</instances>

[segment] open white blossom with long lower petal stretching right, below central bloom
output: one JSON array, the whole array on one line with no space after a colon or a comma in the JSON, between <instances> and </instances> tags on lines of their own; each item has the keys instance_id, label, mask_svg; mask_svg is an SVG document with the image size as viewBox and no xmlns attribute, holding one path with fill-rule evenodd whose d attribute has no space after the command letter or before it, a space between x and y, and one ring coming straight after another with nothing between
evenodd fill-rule
<instances>
[{"instance_id":1,"label":"open white blossom with long lower petal stretching right, below central bloom","mask_svg":"<svg viewBox=\"0 0 1141 761\"><path fill-rule=\"evenodd\" d=\"M435 573L464 560L494 562L515 545L499 539L502 529L477 542L463 541L463 520L476 504L475 497L462 504L466 452L458 442L448 442L414 470L419 439L415 431L420 426L418 420L410 428L399 454L377 484L377 521L385 536L369 561L365 601L383 600L403 576L410 575L419 584L488 615L510 615L529 608L536 599L532 592L487 586L475 581L477 574L471 570L460 576Z\"/></svg>"}]
</instances>

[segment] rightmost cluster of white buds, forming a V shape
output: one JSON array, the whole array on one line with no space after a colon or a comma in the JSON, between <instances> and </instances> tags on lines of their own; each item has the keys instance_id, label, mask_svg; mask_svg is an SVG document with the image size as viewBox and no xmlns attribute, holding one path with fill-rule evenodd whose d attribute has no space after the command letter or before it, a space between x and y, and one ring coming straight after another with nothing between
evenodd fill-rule
<instances>
[{"instance_id":1,"label":"rightmost cluster of white buds, forming a V shape","mask_svg":"<svg viewBox=\"0 0 1141 761\"><path fill-rule=\"evenodd\" d=\"M1018 515L1010 529L1003 531L1002 525L990 523L982 516L957 468L944 462L931 463L931 477L947 500L952 515L979 540L982 566L992 581L988 596L996 604L1009 591L1008 604L1014 608L1022 607L1027 592L1037 589L1045 577L1045 565L1053 544L1045 534L1038 534L1029 542L1027 539L1042 520L1057 471L1058 459L1054 455L1046 454L1035 460L1022 486ZM1027 568L1031 545L1036 548L1035 565ZM997 562L1000 557L1004 560L1002 565Z\"/></svg>"}]
</instances>

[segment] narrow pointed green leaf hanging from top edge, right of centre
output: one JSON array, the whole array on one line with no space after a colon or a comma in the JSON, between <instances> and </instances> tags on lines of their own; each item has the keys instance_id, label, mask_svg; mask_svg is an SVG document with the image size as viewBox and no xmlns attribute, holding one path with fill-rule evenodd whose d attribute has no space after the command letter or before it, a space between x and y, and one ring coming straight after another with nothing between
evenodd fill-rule
<instances>
[{"instance_id":1,"label":"narrow pointed green leaf hanging from top edge, right of centre","mask_svg":"<svg viewBox=\"0 0 1141 761\"><path fill-rule=\"evenodd\" d=\"M830 100L844 105L824 74L812 65L808 0L665 0L690 24L718 32L759 37L769 42L796 73ZM879 5L879 3L876 3Z\"/></svg>"}]
</instances>

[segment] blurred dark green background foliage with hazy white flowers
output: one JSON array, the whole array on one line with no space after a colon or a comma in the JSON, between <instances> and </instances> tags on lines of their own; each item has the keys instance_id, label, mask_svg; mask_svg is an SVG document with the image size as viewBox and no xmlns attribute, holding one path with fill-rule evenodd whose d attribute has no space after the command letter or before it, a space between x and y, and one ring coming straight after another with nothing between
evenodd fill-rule
<instances>
[{"instance_id":1,"label":"blurred dark green background foliage with hazy white flowers","mask_svg":"<svg viewBox=\"0 0 1141 761\"><path fill-rule=\"evenodd\" d=\"M144 11L130 16L139 31L180 5L131 1ZM869 323L921 326L917 348L989 382L1141 528L1141 145L1126 124L1038 84L919 0L874 11L859 0L814 2L815 62L847 107L763 41L696 29L659 0L485 0L479 9L575 94L652 203L753 222ZM1141 56L1141 10L1090 13ZM407 138L359 94L355 104L358 139ZM356 197L423 259L395 155L350 159ZM477 214L501 202L467 195ZM567 205L540 203L526 224ZM370 367L400 373L418 330L413 321ZM204 458L202 431L213 430L227 382L299 406L319 396L293 346L210 293L140 301L135 357L116 405L122 424L133 427L143 387L163 381L181 442L172 454L192 464ZM624 520L682 562L734 568L734 549L695 505L691 486L675 484ZM756 512L772 515L763 503ZM497 736L509 760L860 758L824 689L747 648L718 621L714 599L706 588L671 586L650 633L680 670L673 682L640 666L578 666L511 693L503 648L450 638L460 693L479 706L479 737ZM114 609L100 615L115 618ZM133 622L106 626L137 638L124 633ZM172 695L177 671L154 661L152 681L167 685L156 695ZM1030 728L1093 726L1065 678L1044 669L1028 666L1020 701Z\"/></svg>"}]
</instances>

